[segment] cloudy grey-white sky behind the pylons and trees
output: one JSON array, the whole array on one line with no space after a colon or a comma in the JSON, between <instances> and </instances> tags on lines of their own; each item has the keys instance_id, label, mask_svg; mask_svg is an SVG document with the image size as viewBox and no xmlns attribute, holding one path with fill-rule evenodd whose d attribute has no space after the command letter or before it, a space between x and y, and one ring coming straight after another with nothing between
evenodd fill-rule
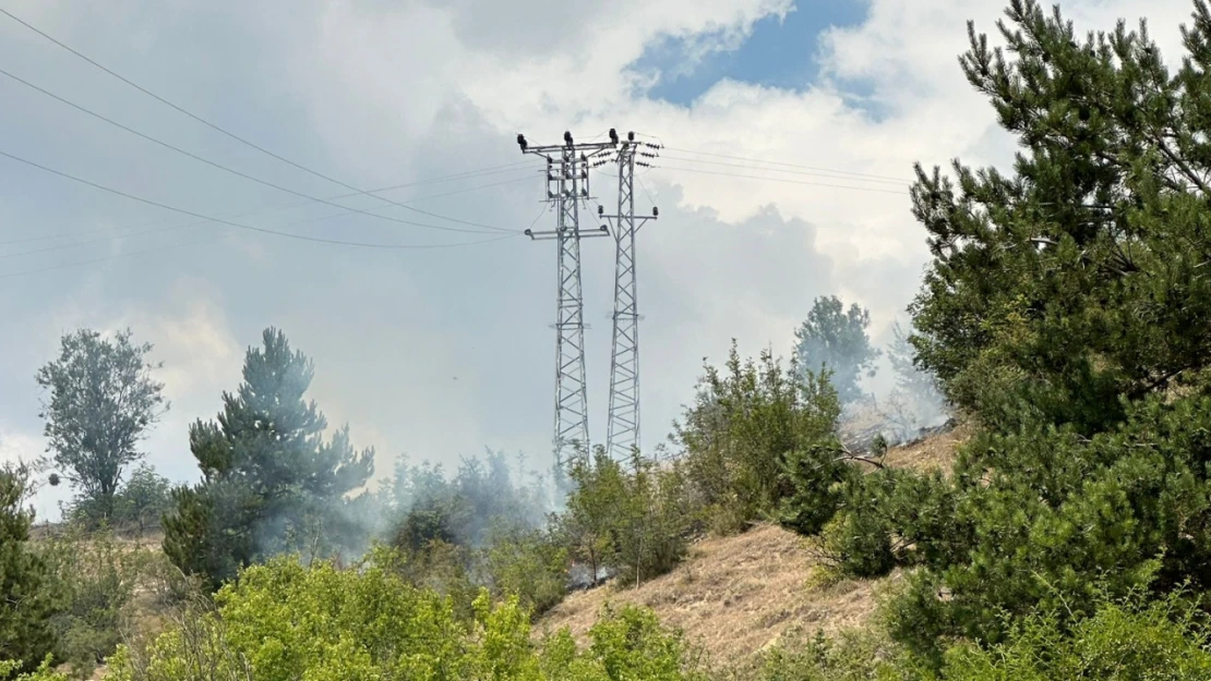
<instances>
[{"instance_id":1,"label":"cloudy grey-white sky behind the pylons and trees","mask_svg":"<svg viewBox=\"0 0 1211 681\"><path fill-rule=\"evenodd\" d=\"M246 350L274 325L314 359L311 397L329 422L375 448L378 475L401 457L454 466L484 448L545 464L555 243L469 243L486 237L450 229L551 229L539 167L520 163L534 157L522 156L516 134L544 144L610 127L665 146L637 189L641 209L660 207L637 246L650 450L693 399L704 358L722 362L731 339L746 356L788 354L816 296L866 306L873 339L890 340L928 264L907 195L913 163L1012 161L1015 140L957 60L966 22L995 31L1004 6L0 0L143 88L338 181L225 137L2 15L0 151L259 229L438 246L349 247L237 229L0 156L0 457L45 449L34 374L61 335L130 328L154 345L172 403L143 451L165 475L194 480L189 425L216 415ZM1176 63L1192 5L1063 8L1081 31L1147 15ZM448 175L459 177L432 181ZM609 206L615 187L595 180ZM395 221L332 217L342 212L299 196L398 185L411 186L384 196L437 217L368 196L334 201ZM609 239L582 248L590 432L601 440L614 252ZM53 518L67 494L42 492L35 508Z\"/></svg>"}]
</instances>

